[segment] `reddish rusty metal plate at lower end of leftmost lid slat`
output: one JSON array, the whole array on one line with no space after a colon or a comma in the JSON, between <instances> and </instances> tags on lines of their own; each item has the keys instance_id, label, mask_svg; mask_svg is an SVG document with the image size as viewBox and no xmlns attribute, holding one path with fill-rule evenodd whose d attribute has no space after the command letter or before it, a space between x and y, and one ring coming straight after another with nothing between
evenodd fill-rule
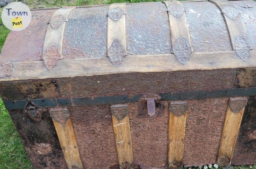
<instances>
[{"instance_id":1,"label":"reddish rusty metal plate at lower end of leftmost lid slat","mask_svg":"<svg viewBox=\"0 0 256 169\"><path fill-rule=\"evenodd\" d=\"M44 66L50 71L58 64L59 60L62 59L62 56L56 46L51 46L43 54L42 59L44 61Z\"/></svg>"}]
</instances>

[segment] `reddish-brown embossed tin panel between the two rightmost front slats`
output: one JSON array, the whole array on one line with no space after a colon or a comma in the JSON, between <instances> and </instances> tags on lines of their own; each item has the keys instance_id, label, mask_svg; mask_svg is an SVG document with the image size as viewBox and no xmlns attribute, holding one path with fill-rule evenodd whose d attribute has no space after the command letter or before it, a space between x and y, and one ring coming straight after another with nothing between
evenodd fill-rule
<instances>
[{"instance_id":1,"label":"reddish-brown embossed tin panel between the two rightmost front slats","mask_svg":"<svg viewBox=\"0 0 256 169\"><path fill-rule=\"evenodd\" d=\"M229 98L188 101L185 166L215 164Z\"/></svg>"}]
</instances>

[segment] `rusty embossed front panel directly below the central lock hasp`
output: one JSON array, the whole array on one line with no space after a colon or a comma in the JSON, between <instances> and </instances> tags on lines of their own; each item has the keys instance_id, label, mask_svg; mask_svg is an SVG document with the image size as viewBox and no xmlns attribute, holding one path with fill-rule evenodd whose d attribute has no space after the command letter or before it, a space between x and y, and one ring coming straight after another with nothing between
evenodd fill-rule
<instances>
[{"instance_id":1,"label":"rusty embossed front panel directly below the central lock hasp","mask_svg":"<svg viewBox=\"0 0 256 169\"><path fill-rule=\"evenodd\" d=\"M134 164L141 169L167 167L168 103L155 105L156 115L149 117L146 103L129 104Z\"/></svg>"}]
</instances>

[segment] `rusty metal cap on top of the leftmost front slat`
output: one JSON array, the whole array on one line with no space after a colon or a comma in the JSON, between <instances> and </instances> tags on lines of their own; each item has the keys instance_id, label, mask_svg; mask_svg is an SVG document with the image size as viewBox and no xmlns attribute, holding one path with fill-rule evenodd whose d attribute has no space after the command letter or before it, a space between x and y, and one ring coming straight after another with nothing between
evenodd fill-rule
<instances>
[{"instance_id":1,"label":"rusty metal cap on top of the leftmost front slat","mask_svg":"<svg viewBox=\"0 0 256 169\"><path fill-rule=\"evenodd\" d=\"M55 107L50 109L50 116L52 119L57 121L58 123L65 125L68 117L70 116L70 112L67 107Z\"/></svg>"}]
</instances>

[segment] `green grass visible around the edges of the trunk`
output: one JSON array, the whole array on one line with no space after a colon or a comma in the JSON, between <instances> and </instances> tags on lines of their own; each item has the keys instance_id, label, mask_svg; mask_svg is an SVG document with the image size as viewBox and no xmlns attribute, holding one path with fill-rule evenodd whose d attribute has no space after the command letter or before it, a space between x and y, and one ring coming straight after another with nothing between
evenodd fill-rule
<instances>
[{"instance_id":1,"label":"green grass visible around the edges of the trunk","mask_svg":"<svg viewBox=\"0 0 256 169\"><path fill-rule=\"evenodd\" d=\"M30 8L83 6L112 3L156 2L162 0L27 0ZM256 1L256 0L255 0ZM0 17L2 9L0 8ZM10 30L3 26L0 18L0 53ZM1 60L0 60L1 62ZM193 167L196 168L196 167ZM256 165L232 166L232 169L256 169ZM0 169L33 169L12 120L0 97ZM221 169L221 167L220 167Z\"/></svg>"}]
</instances>

